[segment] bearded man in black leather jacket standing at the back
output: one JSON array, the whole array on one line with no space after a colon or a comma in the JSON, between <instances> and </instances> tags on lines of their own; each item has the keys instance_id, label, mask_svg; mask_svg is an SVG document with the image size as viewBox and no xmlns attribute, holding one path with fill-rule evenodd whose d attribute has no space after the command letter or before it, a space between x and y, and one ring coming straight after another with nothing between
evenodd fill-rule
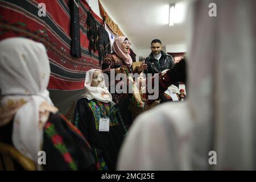
<instances>
[{"instance_id":1,"label":"bearded man in black leather jacket standing at the back","mask_svg":"<svg viewBox=\"0 0 256 182\"><path fill-rule=\"evenodd\" d=\"M174 67L174 59L171 55L168 55L162 51L162 42L159 39L154 39L151 42L151 53L146 58L145 63L147 69L144 73L161 73L165 69L172 69Z\"/></svg>"}]
</instances>

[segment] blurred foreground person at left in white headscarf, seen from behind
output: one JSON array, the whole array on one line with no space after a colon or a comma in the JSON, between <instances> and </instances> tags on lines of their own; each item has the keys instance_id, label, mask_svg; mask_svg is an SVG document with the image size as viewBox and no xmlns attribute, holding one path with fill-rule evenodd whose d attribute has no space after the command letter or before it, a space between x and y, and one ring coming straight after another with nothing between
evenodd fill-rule
<instances>
[{"instance_id":1,"label":"blurred foreground person at left in white headscarf, seen from behind","mask_svg":"<svg viewBox=\"0 0 256 182\"><path fill-rule=\"evenodd\" d=\"M0 76L1 142L14 146L37 169L96 168L84 137L49 98L50 68L43 44L24 38L2 40ZM46 165L38 163L40 151L46 152Z\"/></svg>"}]
</instances>

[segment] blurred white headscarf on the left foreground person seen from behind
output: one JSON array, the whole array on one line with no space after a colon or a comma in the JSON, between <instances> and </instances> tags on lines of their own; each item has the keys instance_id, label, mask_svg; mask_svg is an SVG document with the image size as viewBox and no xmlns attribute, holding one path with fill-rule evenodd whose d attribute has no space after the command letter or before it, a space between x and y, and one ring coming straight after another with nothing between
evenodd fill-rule
<instances>
[{"instance_id":1,"label":"blurred white headscarf on the left foreground person seen from behind","mask_svg":"<svg viewBox=\"0 0 256 182\"><path fill-rule=\"evenodd\" d=\"M24 38L0 42L1 111L9 113L1 117L0 126L14 116L13 144L36 163L46 122L39 118L39 107L46 101L52 104L46 89L49 75L49 61L42 43Z\"/></svg>"}]
</instances>

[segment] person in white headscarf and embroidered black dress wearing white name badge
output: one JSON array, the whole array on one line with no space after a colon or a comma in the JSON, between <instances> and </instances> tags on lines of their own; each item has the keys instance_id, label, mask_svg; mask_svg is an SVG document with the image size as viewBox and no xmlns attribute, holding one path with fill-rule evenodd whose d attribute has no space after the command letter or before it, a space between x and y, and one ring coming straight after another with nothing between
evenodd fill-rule
<instances>
[{"instance_id":1,"label":"person in white headscarf and embroidered black dress wearing white name badge","mask_svg":"<svg viewBox=\"0 0 256 182\"><path fill-rule=\"evenodd\" d=\"M85 93L77 101L73 123L88 140L100 169L114 170L126 127L105 86L102 71L87 71L84 85Z\"/></svg>"}]
</instances>

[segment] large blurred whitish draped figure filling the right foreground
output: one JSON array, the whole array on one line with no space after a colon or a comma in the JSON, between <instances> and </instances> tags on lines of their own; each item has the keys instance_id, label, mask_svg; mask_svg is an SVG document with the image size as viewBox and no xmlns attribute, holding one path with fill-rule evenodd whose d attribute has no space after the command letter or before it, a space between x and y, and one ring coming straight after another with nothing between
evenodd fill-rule
<instances>
[{"instance_id":1,"label":"large blurred whitish draped figure filling the right foreground","mask_svg":"<svg viewBox=\"0 0 256 182\"><path fill-rule=\"evenodd\" d=\"M208 15L212 2L216 17ZM118 169L255 169L255 3L200 0L191 6L188 100L140 115ZM216 165L209 164L210 151Z\"/></svg>"}]
</instances>

